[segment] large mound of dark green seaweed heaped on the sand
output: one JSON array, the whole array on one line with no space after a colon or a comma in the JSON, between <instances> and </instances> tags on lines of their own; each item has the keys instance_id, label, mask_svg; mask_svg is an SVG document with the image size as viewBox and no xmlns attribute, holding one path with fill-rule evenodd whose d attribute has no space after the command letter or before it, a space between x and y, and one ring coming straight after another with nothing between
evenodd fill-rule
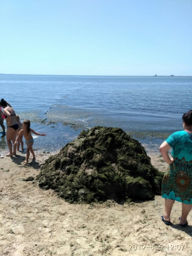
<instances>
[{"instance_id":1,"label":"large mound of dark green seaweed heaped on the sand","mask_svg":"<svg viewBox=\"0 0 192 256\"><path fill-rule=\"evenodd\" d=\"M162 178L140 142L120 128L94 127L50 156L37 181L79 204L152 200L160 194Z\"/></svg>"}]
</instances>

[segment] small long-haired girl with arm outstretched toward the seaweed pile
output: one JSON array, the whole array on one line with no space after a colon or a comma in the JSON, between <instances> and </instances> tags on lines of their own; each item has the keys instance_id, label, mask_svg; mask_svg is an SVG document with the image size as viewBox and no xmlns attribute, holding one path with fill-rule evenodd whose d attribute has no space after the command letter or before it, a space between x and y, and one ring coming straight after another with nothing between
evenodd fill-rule
<instances>
[{"instance_id":1,"label":"small long-haired girl with arm outstretched toward the seaweed pile","mask_svg":"<svg viewBox=\"0 0 192 256\"><path fill-rule=\"evenodd\" d=\"M45 133L41 134L41 133L35 132L33 129L31 129L29 120L23 121L22 124L23 124L23 128L19 132L15 143L18 142L18 139L20 137L22 137L22 135L24 136L25 143L26 143L26 146L27 146L27 148L26 148L26 160L24 161L24 163L28 163L30 152L33 155L32 160L35 159L34 151L33 151L33 148L32 148L33 142L34 142L33 137L32 137L32 133L34 133L35 135L40 135L40 136L45 136L46 134Z\"/></svg>"}]
</instances>

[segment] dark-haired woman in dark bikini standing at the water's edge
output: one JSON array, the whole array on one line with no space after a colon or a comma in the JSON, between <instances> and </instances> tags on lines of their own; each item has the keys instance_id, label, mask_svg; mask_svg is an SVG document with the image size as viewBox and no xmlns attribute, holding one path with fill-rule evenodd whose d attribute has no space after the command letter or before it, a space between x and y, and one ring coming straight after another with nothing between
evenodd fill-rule
<instances>
[{"instance_id":1,"label":"dark-haired woman in dark bikini standing at the water's edge","mask_svg":"<svg viewBox=\"0 0 192 256\"><path fill-rule=\"evenodd\" d=\"M6 156L12 156L16 155L16 147L17 145L13 145L13 151L12 151L12 143L16 141L16 135L17 135L17 129L18 124L16 120L16 113L14 112L14 109L10 106L7 106L7 102L2 99L0 102L0 105L3 108L3 113L5 115L5 120L7 124L7 132L6 132L6 139L7 139L7 147L9 148L9 154L6 154Z\"/></svg>"}]
</instances>

